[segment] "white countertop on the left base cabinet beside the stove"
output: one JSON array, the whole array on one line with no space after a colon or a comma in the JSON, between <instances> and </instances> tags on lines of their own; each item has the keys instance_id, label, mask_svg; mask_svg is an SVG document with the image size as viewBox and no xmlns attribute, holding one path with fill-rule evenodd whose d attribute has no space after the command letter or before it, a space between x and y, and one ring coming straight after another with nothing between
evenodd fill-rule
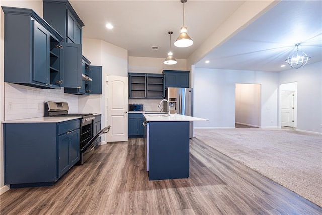
<instances>
[{"instance_id":1,"label":"white countertop on the left base cabinet beside the stove","mask_svg":"<svg viewBox=\"0 0 322 215\"><path fill-rule=\"evenodd\" d=\"M29 118L29 119L15 119L15 120L8 120L3 121L1 123L58 123L69 121L73 119L80 119L80 116L45 116L45 117L36 117L36 118Z\"/></svg>"}]
</instances>

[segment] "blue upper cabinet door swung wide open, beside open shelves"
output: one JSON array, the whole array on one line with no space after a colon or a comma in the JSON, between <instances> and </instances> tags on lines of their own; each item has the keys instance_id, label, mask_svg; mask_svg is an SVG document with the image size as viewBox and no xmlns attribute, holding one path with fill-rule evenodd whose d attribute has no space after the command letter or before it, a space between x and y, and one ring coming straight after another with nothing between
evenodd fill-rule
<instances>
[{"instance_id":1,"label":"blue upper cabinet door swung wide open, beside open shelves","mask_svg":"<svg viewBox=\"0 0 322 215\"><path fill-rule=\"evenodd\" d=\"M82 45L72 43L60 43L63 48L61 57L61 80L62 87L82 87Z\"/></svg>"}]
</instances>

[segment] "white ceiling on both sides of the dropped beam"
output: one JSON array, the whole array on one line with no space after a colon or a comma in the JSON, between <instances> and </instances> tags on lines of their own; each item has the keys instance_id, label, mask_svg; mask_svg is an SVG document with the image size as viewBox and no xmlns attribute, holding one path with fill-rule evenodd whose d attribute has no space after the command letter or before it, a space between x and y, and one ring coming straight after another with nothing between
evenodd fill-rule
<instances>
[{"instance_id":1,"label":"white ceiling on both sides of the dropped beam","mask_svg":"<svg viewBox=\"0 0 322 215\"><path fill-rule=\"evenodd\" d=\"M127 49L129 56L166 58L168 31L173 31L171 50L176 59L187 59L244 2L189 0L185 3L185 26L194 44L177 48L173 42L183 25L180 0L70 1L85 24L84 38ZM112 30L105 27L108 22L114 25ZM281 1L212 50L196 67L281 71L290 68L280 65L296 43L311 57L308 63L322 61L322 1Z\"/></svg>"}]
</instances>

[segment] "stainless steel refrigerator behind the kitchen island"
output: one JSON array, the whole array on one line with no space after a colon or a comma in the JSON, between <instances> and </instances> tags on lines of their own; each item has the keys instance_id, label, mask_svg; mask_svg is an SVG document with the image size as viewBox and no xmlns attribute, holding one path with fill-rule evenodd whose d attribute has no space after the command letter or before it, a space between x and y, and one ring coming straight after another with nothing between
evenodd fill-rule
<instances>
[{"instance_id":1,"label":"stainless steel refrigerator behind the kitchen island","mask_svg":"<svg viewBox=\"0 0 322 215\"><path fill-rule=\"evenodd\" d=\"M166 99L169 101L170 113L178 113L192 116L193 89L192 88L166 88ZM168 111L167 103L164 102L164 111ZM190 122L190 138L192 138L192 122Z\"/></svg>"}]
</instances>

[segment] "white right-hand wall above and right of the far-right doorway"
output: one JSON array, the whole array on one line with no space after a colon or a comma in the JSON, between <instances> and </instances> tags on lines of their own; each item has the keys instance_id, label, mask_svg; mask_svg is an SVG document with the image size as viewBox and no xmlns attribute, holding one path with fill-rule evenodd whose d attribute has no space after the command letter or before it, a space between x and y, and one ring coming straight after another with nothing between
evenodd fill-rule
<instances>
[{"instance_id":1,"label":"white right-hand wall above and right of the far-right doorway","mask_svg":"<svg viewBox=\"0 0 322 215\"><path fill-rule=\"evenodd\" d=\"M297 130L322 133L322 62L279 74L279 84L297 82Z\"/></svg>"}]
</instances>

